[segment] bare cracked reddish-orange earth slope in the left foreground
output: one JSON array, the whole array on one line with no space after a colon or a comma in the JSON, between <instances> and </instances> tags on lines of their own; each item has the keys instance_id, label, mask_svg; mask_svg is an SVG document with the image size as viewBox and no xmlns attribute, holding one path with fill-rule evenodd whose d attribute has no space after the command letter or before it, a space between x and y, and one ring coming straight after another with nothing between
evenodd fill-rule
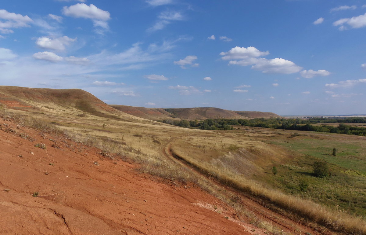
<instances>
[{"instance_id":1,"label":"bare cracked reddish-orange earth slope in the left foreground","mask_svg":"<svg viewBox=\"0 0 366 235\"><path fill-rule=\"evenodd\" d=\"M0 124L0 234L264 235L193 184L173 186L96 148Z\"/></svg>"}]
</instances>

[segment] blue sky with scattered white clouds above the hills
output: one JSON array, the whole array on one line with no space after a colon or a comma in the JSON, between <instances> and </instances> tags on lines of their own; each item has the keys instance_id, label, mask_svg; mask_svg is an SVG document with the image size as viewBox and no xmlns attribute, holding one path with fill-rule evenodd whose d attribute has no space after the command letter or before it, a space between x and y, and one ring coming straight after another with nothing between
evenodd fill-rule
<instances>
[{"instance_id":1,"label":"blue sky with scattered white clouds above the hills","mask_svg":"<svg viewBox=\"0 0 366 235\"><path fill-rule=\"evenodd\" d=\"M108 104L366 114L366 0L13 0L0 85Z\"/></svg>"}]
</instances>

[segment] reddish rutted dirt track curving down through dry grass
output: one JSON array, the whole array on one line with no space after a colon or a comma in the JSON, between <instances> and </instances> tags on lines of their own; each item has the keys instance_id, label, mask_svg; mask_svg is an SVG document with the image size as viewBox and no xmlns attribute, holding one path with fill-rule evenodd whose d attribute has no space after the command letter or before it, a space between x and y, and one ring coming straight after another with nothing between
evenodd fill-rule
<instances>
[{"instance_id":1,"label":"reddish rutted dirt track curving down through dry grass","mask_svg":"<svg viewBox=\"0 0 366 235\"><path fill-rule=\"evenodd\" d=\"M178 164L186 167L187 169L192 170L196 174L206 177L206 179L211 180L212 183L214 183L216 186L223 188L224 190L227 190L227 191L231 192L232 194L240 197L241 203L244 205L244 207L247 208L247 210L249 210L250 212L252 212L256 218L260 218L289 234L298 234L298 235L303 235L303 234L334 235L335 234L328 230L324 230L322 232L315 231L314 229L302 224L302 221L303 221L302 219L298 220L298 221L293 221L279 213L269 210L264 205L261 205L261 203L258 200L251 197L249 194L240 192L238 190L235 190L234 188L227 187L227 186L219 183L218 181L209 178L207 175L201 173L199 171L199 169L195 168L195 166L192 166L187 161L185 161L182 157L173 153L172 145L174 143L174 140L175 139L172 139L171 142L166 144L162 149L162 152L166 157L168 157L172 161L175 161Z\"/></svg>"}]
</instances>

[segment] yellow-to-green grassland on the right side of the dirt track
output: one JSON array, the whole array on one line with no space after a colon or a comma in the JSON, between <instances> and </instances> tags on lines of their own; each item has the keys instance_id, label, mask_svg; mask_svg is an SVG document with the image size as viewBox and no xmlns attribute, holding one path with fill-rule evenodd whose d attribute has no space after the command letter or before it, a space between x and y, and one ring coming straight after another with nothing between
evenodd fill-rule
<instances>
[{"instance_id":1,"label":"yellow-to-green grassland on the right side of the dirt track","mask_svg":"<svg viewBox=\"0 0 366 235\"><path fill-rule=\"evenodd\" d=\"M291 146L288 148L288 151L284 151L283 149L281 150L281 148L271 144L272 141L279 140L283 143L290 143L290 141L296 143L296 141L301 142L303 139L309 139L314 143L317 143L313 144L312 147L309 147L309 151L315 152L317 151L317 147L324 144L319 141L319 139L328 138L327 141L329 144L339 144L339 138L346 138L346 143L343 145L339 144L339 146L337 146L344 147L340 152L342 153L352 149L354 146L359 146L359 151L362 153L363 161L365 161L366 148L362 145L362 140L361 142L354 143L354 138L360 137L351 136L348 139L347 137L344 137L344 135L327 135L325 133L314 132L301 132L303 134L299 134L294 133L293 131L278 132L277 130L270 131L269 129L264 128L253 128L251 130L248 129L244 131L237 130L231 132L231 135L236 134L236 136L238 136L240 132L242 132L242 135L248 135L247 139L249 140L238 141L236 138L236 141L233 141L235 138L228 138L226 141L224 140L223 142L220 141L220 143L217 143L214 139L204 137L200 139L201 141L203 140L203 142L197 144L199 139L196 137L184 137L173 143L172 150L180 158L183 158L186 162L198 170L201 170L201 172L206 175L215 177L222 183L231 185L240 190L249 191L254 195L269 199L270 202L279 205L281 208L294 211L309 220L317 221L318 223L325 225L331 225L335 230L351 231L352 228L356 228L356 230L361 232L361 234L366 231L365 218L355 219L354 217L348 216L344 213L345 211L350 212L350 210L344 210L344 208L339 207L339 204L343 204L342 206L345 206L344 203L340 202L347 198L339 197L341 194L337 192L345 190L345 194L352 193L350 196L351 199L352 197L359 197L361 201L362 198L365 199L366 180L362 175L355 176L357 179L355 179L355 177L353 179L346 177L347 179L345 180L344 172L347 172L347 169L349 168L340 168L339 166L334 168L331 166L334 171L333 173L336 172L336 176L333 176L330 180L328 178L317 179L311 176L311 165L314 161L319 161L319 159L324 158L317 158L317 155L313 157L301 154L301 151L299 153L297 152L298 149L291 147L293 143L290 144ZM347 147L349 147L348 150ZM240 148L244 148L245 150ZM325 148L320 153L321 156L329 156L330 153L332 153L332 148L332 146ZM305 147L304 149L307 150L308 148ZM220 154L209 155L212 150L216 150L217 152L220 152ZM228 154L227 150L232 153ZM208 155L201 157L202 154ZM300 161L296 163L294 158L300 159ZM342 159L343 157L340 156L339 158ZM288 168L288 163L293 164L292 167L298 170L290 170L290 173L283 170L284 168ZM280 167L281 170L277 176L273 176L272 173L270 173L270 167L274 164L276 164L277 167ZM304 165L306 165L306 167L304 167ZM263 173L263 171L265 173ZM351 171L351 174L357 174L357 172ZM312 193L301 193L297 185L300 177L309 178L309 183L313 184L313 186L310 187L312 188ZM252 179L257 180L255 181ZM287 190L288 194L283 193L283 191L286 191L286 180L292 180L293 182L292 190ZM350 182L347 182L347 180L355 180L356 183L352 185ZM266 186L264 186L263 183L266 183ZM335 187L335 185L337 187ZM282 192L267 188L276 186ZM349 187L353 187L353 189L349 190ZM295 191L293 190L294 188L296 188ZM332 198L333 200L328 200L327 203L324 200L321 202L334 209L328 209L325 206L314 203L313 201L306 200L306 198L313 198L317 201L317 198L314 197L314 195L318 194L321 194L324 197L324 195L327 195L324 194L325 189L332 192L335 197ZM289 194L293 194L294 196ZM338 196L338 198L336 196ZM363 210L354 210L353 212L363 215Z\"/></svg>"}]
</instances>

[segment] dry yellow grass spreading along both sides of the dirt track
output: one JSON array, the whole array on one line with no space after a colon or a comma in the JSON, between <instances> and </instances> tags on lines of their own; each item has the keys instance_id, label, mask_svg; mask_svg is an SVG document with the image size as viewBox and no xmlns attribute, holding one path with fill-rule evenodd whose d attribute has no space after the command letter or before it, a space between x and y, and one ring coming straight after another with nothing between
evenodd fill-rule
<instances>
[{"instance_id":1,"label":"dry yellow grass spreading along both sides of the dirt track","mask_svg":"<svg viewBox=\"0 0 366 235\"><path fill-rule=\"evenodd\" d=\"M283 150L266 144L258 138L259 135L271 135L270 133L184 129L141 118L131 118L128 115L123 115L120 119L108 119L85 114L76 109L61 109L56 105L51 111L48 108L42 108L47 115L22 111L15 111L15 113L37 117L37 119L23 117L23 120L20 118L20 121L27 121L37 128L52 129L56 126L76 142L96 146L122 156L126 155L140 162L143 172L166 179L193 181L223 200L229 198L204 178L168 161L162 155L162 148L169 142L173 142L172 148L177 154L202 172L216 177L223 183L258 197L267 198L300 216L332 226L336 231L366 234L365 220L361 218L285 195L250 180L250 176L259 172L261 166L286 157ZM11 114L6 109L3 111L5 116ZM83 114L86 116L82 116ZM48 124L45 125L45 122ZM56 124L51 125L51 122ZM226 201L229 202L229 200Z\"/></svg>"}]
</instances>

